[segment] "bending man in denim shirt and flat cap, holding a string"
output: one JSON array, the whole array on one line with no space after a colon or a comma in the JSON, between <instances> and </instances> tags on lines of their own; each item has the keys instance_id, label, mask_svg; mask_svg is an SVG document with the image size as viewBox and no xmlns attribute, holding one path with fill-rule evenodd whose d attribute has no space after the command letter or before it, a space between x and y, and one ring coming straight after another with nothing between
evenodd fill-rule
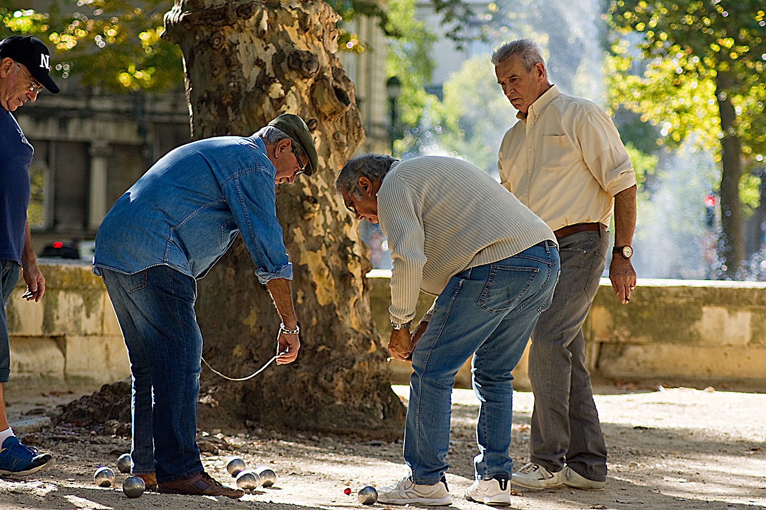
<instances>
[{"instance_id":1,"label":"bending man in denim shirt and flat cap, holding a string","mask_svg":"<svg viewBox=\"0 0 766 510\"><path fill-rule=\"evenodd\" d=\"M160 492L226 495L195 441L202 336L194 311L205 276L241 233L282 317L277 363L300 341L276 184L311 175L317 156L299 116L283 114L250 137L194 141L157 161L119 200L96 236L103 276L133 375L132 472Z\"/></svg>"}]
</instances>

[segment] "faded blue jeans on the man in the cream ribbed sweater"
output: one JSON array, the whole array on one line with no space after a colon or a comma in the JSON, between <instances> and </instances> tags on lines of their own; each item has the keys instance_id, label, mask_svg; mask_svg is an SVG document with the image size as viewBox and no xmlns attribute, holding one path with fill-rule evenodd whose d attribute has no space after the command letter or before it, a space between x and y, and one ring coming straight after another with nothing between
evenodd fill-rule
<instances>
[{"instance_id":1,"label":"faded blue jeans on the man in the cream ribbed sweater","mask_svg":"<svg viewBox=\"0 0 766 510\"><path fill-rule=\"evenodd\" d=\"M404 460L413 482L433 485L447 470L452 387L471 355L473 391L481 402L476 478L511 476L511 370L550 304L557 279L558 250L537 245L447 282L412 352Z\"/></svg>"}]
</instances>

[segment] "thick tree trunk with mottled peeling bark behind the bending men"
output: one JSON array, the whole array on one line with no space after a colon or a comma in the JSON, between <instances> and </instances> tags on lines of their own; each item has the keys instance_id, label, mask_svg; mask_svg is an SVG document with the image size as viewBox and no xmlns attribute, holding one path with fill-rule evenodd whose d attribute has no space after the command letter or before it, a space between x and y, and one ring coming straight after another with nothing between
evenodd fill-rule
<instances>
[{"instance_id":1,"label":"thick tree trunk with mottled peeling bark behind the bending men","mask_svg":"<svg viewBox=\"0 0 766 510\"><path fill-rule=\"evenodd\" d=\"M338 20L323 2L272 0L177 0L165 15L163 37L184 54L192 138L251 135L291 112L313 129L319 153L319 171L277 187L301 327L298 360L247 382L203 368L201 402L240 426L400 437L404 407L391 390L366 292L372 265L334 190L336 171L364 140L354 84L335 54ZM254 269L237 241L198 284L203 356L231 377L260 368L277 345L280 318Z\"/></svg>"}]
</instances>

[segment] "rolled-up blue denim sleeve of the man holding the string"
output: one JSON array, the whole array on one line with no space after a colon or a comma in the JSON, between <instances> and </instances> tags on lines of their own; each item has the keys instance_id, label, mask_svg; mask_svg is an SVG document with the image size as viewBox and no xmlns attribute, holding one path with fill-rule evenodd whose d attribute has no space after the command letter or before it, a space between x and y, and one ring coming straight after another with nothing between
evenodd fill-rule
<instances>
[{"instance_id":1,"label":"rolled-up blue denim sleeve of the man holding the string","mask_svg":"<svg viewBox=\"0 0 766 510\"><path fill-rule=\"evenodd\" d=\"M251 168L234 174L223 185L226 201L242 235L261 284L274 278L293 279L290 262L277 219L272 168Z\"/></svg>"}]
</instances>

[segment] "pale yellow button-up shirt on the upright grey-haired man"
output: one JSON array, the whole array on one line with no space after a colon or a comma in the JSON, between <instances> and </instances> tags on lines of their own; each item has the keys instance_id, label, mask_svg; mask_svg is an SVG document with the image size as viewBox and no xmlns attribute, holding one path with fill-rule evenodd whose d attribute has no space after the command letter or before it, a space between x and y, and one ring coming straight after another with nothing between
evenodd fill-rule
<instances>
[{"instance_id":1,"label":"pale yellow button-up shirt on the upright grey-haired man","mask_svg":"<svg viewBox=\"0 0 766 510\"><path fill-rule=\"evenodd\" d=\"M614 195L636 174L609 116L588 99L540 96L516 115L500 145L500 183L552 229L575 223L609 225Z\"/></svg>"}]
</instances>

